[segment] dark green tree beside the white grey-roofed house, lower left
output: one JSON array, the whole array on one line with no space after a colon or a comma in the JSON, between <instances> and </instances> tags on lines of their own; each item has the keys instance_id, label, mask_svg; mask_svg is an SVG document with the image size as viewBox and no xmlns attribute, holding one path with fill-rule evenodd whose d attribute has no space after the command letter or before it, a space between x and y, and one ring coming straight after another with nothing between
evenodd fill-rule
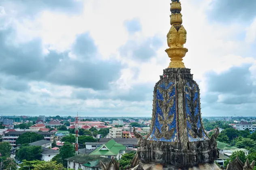
<instances>
[{"instance_id":1,"label":"dark green tree beside the white grey-roofed house, lower left","mask_svg":"<svg viewBox=\"0 0 256 170\"><path fill-rule=\"evenodd\" d=\"M26 159L27 161L39 160L42 152L43 149L41 146L22 146L19 148L17 157L20 161L23 159Z\"/></svg>"}]
</instances>

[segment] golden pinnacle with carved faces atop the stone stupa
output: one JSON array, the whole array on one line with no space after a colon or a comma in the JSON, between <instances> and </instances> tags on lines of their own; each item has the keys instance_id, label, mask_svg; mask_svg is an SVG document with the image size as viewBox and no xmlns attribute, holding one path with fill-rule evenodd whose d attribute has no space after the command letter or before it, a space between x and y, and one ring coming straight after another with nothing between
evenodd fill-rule
<instances>
[{"instance_id":1,"label":"golden pinnacle with carved faces atop the stone stupa","mask_svg":"<svg viewBox=\"0 0 256 170\"><path fill-rule=\"evenodd\" d=\"M185 68L182 58L185 57L188 49L184 48L183 45L187 40L187 31L181 25L181 3L179 0L172 0L171 3L171 29L167 34L167 44L169 46L166 49L166 53L171 58L171 62L168 68Z\"/></svg>"}]
</instances>

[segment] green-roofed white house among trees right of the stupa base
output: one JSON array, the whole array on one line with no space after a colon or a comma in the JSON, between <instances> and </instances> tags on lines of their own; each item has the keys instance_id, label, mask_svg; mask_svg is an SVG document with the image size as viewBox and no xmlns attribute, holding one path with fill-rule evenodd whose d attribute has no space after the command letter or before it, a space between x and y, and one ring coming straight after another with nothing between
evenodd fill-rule
<instances>
[{"instance_id":1,"label":"green-roofed white house among trees right of the stupa base","mask_svg":"<svg viewBox=\"0 0 256 170\"><path fill-rule=\"evenodd\" d=\"M247 149L240 149L240 148L231 146L227 143L219 142L219 141L217 141L217 148L219 149L221 154L227 157L232 155L232 153L235 151L243 151L246 156L248 155L248 152L249 152Z\"/></svg>"}]
</instances>

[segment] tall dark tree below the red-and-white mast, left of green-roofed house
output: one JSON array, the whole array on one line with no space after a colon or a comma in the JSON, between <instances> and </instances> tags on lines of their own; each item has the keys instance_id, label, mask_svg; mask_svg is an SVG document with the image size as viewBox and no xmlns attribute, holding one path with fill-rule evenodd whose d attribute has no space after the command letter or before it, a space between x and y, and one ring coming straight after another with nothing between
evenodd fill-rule
<instances>
[{"instance_id":1,"label":"tall dark tree below the red-and-white mast, left of green-roofed house","mask_svg":"<svg viewBox=\"0 0 256 170\"><path fill-rule=\"evenodd\" d=\"M65 142L64 145L60 148L59 155L60 159L62 160L62 165L67 166L67 161L65 159L75 156L75 147L71 143Z\"/></svg>"}]
</instances>

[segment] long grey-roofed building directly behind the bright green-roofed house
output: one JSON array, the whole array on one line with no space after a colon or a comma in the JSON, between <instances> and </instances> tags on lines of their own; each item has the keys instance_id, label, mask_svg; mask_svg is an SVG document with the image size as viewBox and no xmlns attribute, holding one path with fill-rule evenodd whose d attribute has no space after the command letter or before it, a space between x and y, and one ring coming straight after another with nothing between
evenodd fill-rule
<instances>
[{"instance_id":1,"label":"long grey-roofed building directly behind the bright green-roofed house","mask_svg":"<svg viewBox=\"0 0 256 170\"><path fill-rule=\"evenodd\" d=\"M85 146L87 149L96 149L100 147L102 144L106 144L109 142L111 138L100 138L99 142L85 142ZM115 142L126 146L126 149L133 149L138 146L138 139L137 138L113 138Z\"/></svg>"}]
</instances>

